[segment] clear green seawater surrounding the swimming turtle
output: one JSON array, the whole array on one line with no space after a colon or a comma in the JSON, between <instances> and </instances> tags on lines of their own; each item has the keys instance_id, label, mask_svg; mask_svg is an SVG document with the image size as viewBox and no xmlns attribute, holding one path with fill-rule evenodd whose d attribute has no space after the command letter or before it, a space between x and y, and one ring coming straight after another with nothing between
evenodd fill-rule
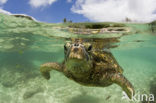
<instances>
[{"instance_id":1,"label":"clear green seawater surrounding the swimming turtle","mask_svg":"<svg viewBox=\"0 0 156 103\"><path fill-rule=\"evenodd\" d=\"M149 103L122 99L116 84L87 87L57 71L46 80L39 71L43 63L61 63L64 44L82 38L110 49L136 94L156 98L156 33L146 24L127 25L134 31L128 35L76 35L62 30L62 24L0 14L0 103Z\"/></svg>"}]
</instances>

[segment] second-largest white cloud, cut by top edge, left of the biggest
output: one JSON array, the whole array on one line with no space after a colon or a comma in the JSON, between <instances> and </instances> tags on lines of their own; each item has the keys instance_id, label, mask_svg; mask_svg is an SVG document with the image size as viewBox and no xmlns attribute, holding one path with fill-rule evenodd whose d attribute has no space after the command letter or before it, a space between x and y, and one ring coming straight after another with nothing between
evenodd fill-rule
<instances>
[{"instance_id":1,"label":"second-largest white cloud, cut by top edge, left of the biggest","mask_svg":"<svg viewBox=\"0 0 156 103\"><path fill-rule=\"evenodd\" d=\"M45 7L47 5L53 4L57 0L29 0L29 4L32 7L38 8L38 7Z\"/></svg>"}]
</instances>

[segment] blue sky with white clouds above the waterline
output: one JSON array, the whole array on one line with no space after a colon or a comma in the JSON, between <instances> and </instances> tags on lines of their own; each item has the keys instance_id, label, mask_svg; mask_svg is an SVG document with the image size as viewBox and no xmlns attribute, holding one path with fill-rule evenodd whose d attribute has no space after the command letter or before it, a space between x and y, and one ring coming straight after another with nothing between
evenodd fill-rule
<instances>
[{"instance_id":1,"label":"blue sky with white clouds above the waterline","mask_svg":"<svg viewBox=\"0 0 156 103\"><path fill-rule=\"evenodd\" d=\"M38 21L136 22L156 20L156 0L0 0L0 12L27 14Z\"/></svg>"}]
</instances>

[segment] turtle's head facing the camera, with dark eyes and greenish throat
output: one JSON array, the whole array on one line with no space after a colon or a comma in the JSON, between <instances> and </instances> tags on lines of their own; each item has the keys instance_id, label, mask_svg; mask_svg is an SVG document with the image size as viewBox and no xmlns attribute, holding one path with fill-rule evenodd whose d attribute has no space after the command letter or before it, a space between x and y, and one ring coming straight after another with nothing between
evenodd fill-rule
<instances>
[{"instance_id":1,"label":"turtle's head facing the camera, with dark eyes and greenish throat","mask_svg":"<svg viewBox=\"0 0 156 103\"><path fill-rule=\"evenodd\" d=\"M75 73L82 73L91 69L91 50L92 45L89 43L66 43L64 45L64 52L67 68Z\"/></svg>"}]
</instances>

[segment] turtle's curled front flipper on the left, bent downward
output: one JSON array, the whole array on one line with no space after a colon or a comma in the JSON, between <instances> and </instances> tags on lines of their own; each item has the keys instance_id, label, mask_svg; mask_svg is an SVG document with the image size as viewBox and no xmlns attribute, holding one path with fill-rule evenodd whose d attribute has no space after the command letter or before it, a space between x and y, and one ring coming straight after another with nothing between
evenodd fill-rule
<instances>
[{"instance_id":1,"label":"turtle's curled front flipper on the left, bent downward","mask_svg":"<svg viewBox=\"0 0 156 103\"><path fill-rule=\"evenodd\" d=\"M51 70L62 71L62 66L58 63L51 62L51 63L42 64L40 67L40 72L46 79L50 79Z\"/></svg>"}]
</instances>

